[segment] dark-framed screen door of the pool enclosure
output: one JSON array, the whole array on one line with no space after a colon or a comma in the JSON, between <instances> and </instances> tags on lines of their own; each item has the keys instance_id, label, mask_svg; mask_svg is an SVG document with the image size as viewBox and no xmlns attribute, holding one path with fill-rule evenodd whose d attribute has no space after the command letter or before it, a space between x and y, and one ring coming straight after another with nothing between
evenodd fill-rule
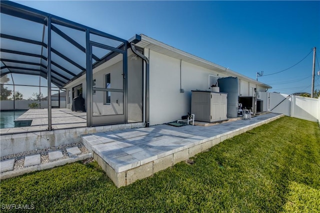
<instances>
[{"instance_id":1,"label":"dark-framed screen door of the pool enclosure","mask_svg":"<svg viewBox=\"0 0 320 213\"><path fill-rule=\"evenodd\" d=\"M91 125L125 123L125 51L95 42L90 50Z\"/></svg>"}]
</instances>

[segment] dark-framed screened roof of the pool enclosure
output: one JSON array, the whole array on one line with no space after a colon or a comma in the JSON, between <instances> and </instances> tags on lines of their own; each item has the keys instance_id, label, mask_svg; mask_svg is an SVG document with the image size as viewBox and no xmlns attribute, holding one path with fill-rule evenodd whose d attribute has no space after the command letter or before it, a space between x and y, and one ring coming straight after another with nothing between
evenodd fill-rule
<instances>
[{"instance_id":1,"label":"dark-framed screened roof of the pool enclosure","mask_svg":"<svg viewBox=\"0 0 320 213\"><path fill-rule=\"evenodd\" d=\"M1 0L0 6L1 77L18 73L47 78L50 45L51 82L61 88L85 73L87 31L93 42L122 50L127 43L122 38L18 3ZM112 53L92 55L92 59L99 63Z\"/></svg>"}]
</instances>

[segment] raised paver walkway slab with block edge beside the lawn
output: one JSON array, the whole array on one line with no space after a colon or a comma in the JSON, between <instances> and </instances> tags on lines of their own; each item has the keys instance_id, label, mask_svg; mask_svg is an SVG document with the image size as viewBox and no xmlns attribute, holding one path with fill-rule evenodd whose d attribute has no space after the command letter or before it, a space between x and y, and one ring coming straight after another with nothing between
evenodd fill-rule
<instances>
[{"instance_id":1,"label":"raised paver walkway slab with block edge beside the lawn","mask_svg":"<svg viewBox=\"0 0 320 213\"><path fill-rule=\"evenodd\" d=\"M213 126L156 125L81 137L84 146L117 187L153 175L212 146L284 116L267 113L251 120Z\"/></svg>"}]
</instances>

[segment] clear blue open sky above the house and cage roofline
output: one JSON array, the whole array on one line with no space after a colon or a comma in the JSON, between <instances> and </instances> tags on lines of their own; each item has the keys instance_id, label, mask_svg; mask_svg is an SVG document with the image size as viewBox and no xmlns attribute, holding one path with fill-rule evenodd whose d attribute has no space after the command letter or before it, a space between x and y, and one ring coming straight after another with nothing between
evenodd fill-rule
<instances>
[{"instance_id":1,"label":"clear blue open sky above the house and cage roofline","mask_svg":"<svg viewBox=\"0 0 320 213\"><path fill-rule=\"evenodd\" d=\"M142 33L253 79L296 64L313 47L320 55L320 1L15 2L124 39ZM310 92L311 72L312 52L258 80L270 91Z\"/></svg>"}]
</instances>

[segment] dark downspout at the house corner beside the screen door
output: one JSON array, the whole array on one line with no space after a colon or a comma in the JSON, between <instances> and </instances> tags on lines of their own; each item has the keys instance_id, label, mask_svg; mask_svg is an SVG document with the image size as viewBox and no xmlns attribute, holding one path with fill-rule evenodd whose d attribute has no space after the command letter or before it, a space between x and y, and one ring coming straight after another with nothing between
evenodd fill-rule
<instances>
[{"instance_id":1,"label":"dark downspout at the house corner beside the screen door","mask_svg":"<svg viewBox=\"0 0 320 213\"><path fill-rule=\"evenodd\" d=\"M145 61L145 127L149 127L149 59L135 49L134 43L130 43L130 48L134 54Z\"/></svg>"}]
</instances>

